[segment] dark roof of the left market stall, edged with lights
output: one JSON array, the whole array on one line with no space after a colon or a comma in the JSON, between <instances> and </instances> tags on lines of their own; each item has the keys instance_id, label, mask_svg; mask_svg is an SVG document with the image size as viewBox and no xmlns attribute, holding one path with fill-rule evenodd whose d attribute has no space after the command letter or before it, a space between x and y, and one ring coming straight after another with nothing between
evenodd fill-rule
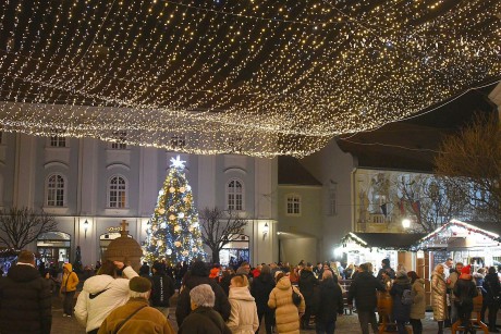
<instances>
[{"instance_id":1,"label":"dark roof of the left market stall, edged with lights","mask_svg":"<svg viewBox=\"0 0 501 334\"><path fill-rule=\"evenodd\" d=\"M421 233L358 233L350 232L342 239L342 244L350 240L367 248L384 248L394 250L408 250L425 234Z\"/></svg>"}]
</instances>

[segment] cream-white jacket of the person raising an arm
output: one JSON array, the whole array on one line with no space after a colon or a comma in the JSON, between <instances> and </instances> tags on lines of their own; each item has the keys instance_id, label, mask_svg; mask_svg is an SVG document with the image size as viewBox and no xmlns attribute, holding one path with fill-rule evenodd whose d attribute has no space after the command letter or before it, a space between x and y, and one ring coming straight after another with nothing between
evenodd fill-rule
<instances>
[{"instance_id":1,"label":"cream-white jacket of the person raising an arm","mask_svg":"<svg viewBox=\"0 0 501 334\"><path fill-rule=\"evenodd\" d=\"M131 267L124 268L123 274L127 279L137 276ZM112 310L127 302L127 279L96 275L85 281L84 288L76 300L75 318L85 326L86 332L99 327Z\"/></svg>"}]
</instances>

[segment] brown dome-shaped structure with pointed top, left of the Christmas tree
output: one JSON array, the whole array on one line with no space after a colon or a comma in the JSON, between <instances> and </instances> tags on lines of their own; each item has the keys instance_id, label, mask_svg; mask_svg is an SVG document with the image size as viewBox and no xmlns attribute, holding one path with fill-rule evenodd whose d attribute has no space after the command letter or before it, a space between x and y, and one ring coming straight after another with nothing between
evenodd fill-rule
<instances>
[{"instance_id":1,"label":"brown dome-shaped structure with pointed top, left of the Christmas tree","mask_svg":"<svg viewBox=\"0 0 501 334\"><path fill-rule=\"evenodd\" d=\"M110 243L108 249L105 251L105 260L121 261L138 272L143 248L136 240L129 237L127 221L122 220L120 225L122 225L120 231L121 236Z\"/></svg>"}]
</instances>

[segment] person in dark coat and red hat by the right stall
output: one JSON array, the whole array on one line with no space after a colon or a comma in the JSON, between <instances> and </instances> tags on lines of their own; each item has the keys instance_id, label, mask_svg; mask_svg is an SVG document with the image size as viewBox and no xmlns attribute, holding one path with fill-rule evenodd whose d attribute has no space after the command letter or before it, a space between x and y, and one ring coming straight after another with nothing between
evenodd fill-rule
<instances>
[{"instance_id":1,"label":"person in dark coat and red hat by the right stall","mask_svg":"<svg viewBox=\"0 0 501 334\"><path fill-rule=\"evenodd\" d=\"M478 292L469 270L469 265L463 267L460 279L454 285L453 294L455 297L454 302L457 307L457 317L466 329L465 332L467 333L471 331L474 333L472 324L469 323L469 316L473 311L473 298L478 295Z\"/></svg>"}]
</instances>

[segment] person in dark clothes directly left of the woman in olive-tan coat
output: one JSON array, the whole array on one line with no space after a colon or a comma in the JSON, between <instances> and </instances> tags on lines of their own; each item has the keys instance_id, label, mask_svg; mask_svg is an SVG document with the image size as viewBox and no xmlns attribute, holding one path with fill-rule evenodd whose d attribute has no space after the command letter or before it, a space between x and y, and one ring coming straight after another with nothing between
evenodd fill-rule
<instances>
[{"instance_id":1,"label":"person in dark clothes directly left of the woman in olive-tan coat","mask_svg":"<svg viewBox=\"0 0 501 334\"><path fill-rule=\"evenodd\" d=\"M393 299L393 319L396 322L399 334L406 334L405 323L411 319L413 295L411 281L404 270L399 270L396 272L396 277L390 289L390 296Z\"/></svg>"}]
</instances>

